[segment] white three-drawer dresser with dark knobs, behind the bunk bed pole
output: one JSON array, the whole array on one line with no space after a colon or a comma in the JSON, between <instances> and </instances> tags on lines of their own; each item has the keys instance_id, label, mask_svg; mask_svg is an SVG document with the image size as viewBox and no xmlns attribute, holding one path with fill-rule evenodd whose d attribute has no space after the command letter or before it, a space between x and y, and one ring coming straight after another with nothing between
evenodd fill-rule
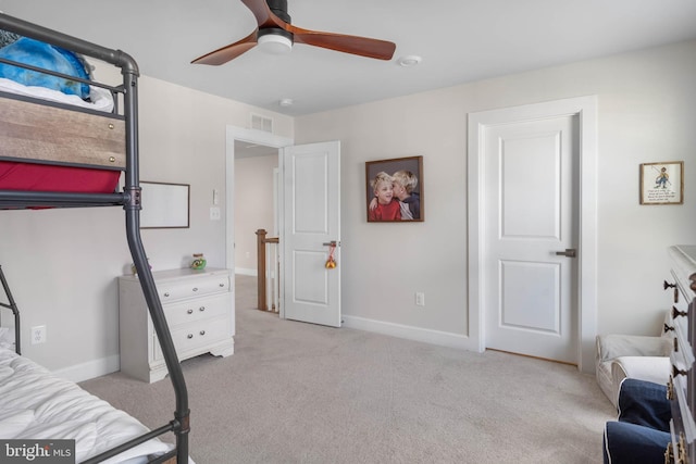
<instances>
[{"instance_id":1,"label":"white three-drawer dresser with dark knobs, behind the bunk bed pole","mask_svg":"<svg viewBox=\"0 0 696 464\"><path fill-rule=\"evenodd\" d=\"M152 273L179 361L203 353L234 353L234 300L229 269ZM166 364L137 276L119 277L121 371L141 380L163 379Z\"/></svg>"}]
</instances>

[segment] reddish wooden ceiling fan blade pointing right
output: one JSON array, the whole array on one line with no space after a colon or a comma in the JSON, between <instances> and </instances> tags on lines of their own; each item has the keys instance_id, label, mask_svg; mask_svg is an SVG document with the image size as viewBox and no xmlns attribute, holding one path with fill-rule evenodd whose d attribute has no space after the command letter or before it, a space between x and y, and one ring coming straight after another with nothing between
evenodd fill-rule
<instances>
[{"instance_id":1,"label":"reddish wooden ceiling fan blade pointing right","mask_svg":"<svg viewBox=\"0 0 696 464\"><path fill-rule=\"evenodd\" d=\"M291 24L287 25L286 30L295 35L296 43L306 43L343 51L344 53L376 58L377 60L391 60L394 51L396 50L396 43L394 42L371 39L369 37L308 30L293 26Z\"/></svg>"}]
</instances>

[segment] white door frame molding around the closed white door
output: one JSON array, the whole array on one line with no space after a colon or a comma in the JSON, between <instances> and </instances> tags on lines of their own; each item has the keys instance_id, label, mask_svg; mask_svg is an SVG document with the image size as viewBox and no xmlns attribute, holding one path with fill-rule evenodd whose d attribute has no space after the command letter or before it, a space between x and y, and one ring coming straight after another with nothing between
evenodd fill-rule
<instances>
[{"instance_id":1,"label":"white door frame molding around the closed white door","mask_svg":"<svg viewBox=\"0 0 696 464\"><path fill-rule=\"evenodd\" d=\"M481 275L485 251L484 139L486 126L501 121L518 122L576 115L580 129L579 262L577 262L577 368L593 373L597 335L597 96L525 104L469 114L468 142L468 248L470 348L486 348L485 314Z\"/></svg>"}]
</instances>

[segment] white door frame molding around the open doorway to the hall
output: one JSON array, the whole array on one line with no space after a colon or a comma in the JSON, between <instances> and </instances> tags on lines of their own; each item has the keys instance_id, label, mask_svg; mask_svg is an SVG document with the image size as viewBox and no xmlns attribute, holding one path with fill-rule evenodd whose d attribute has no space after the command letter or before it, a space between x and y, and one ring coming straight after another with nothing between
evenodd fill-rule
<instances>
[{"instance_id":1,"label":"white door frame molding around the open doorway to the hall","mask_svg":"<svg viewBox=\"0 0 696 464\"><path fill-rule=\"evenodd\" d=\"M277 136L264 130L231 125L225 127L225 267L228 269L235 268L235 140L277 148L278 168L281 170L283 168L283 156L281 156L279 149L295 143L295 140L289 137ZM278 188L278 190L281 189Z\"/></svg>"}]
</instances>

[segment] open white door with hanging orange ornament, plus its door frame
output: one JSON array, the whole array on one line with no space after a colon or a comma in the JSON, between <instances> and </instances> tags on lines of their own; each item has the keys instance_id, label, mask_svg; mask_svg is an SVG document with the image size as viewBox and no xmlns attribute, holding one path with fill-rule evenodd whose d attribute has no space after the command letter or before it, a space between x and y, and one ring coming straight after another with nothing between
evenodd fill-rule
<instances>
[{"instance_id":1,"label":"open white door with hanging orange ornament, plus its door frame","mask_svg":"<svg viewBox=\"0 0 696 464\"><path fill-rule=\"evenodd\" d=\"M283 148L278 150L277 196L282 205L278 241L284 268L278 269L284 283L278 291L279 317L340 327L340 269L332 267L328 274L324 265L330 251L336 253L337 260L340 254L340 142L294 146L285 137L227 126L225 264L228 268L234 268L237 253L235 209L244 201L235 199L236 141Z\"/></svg>"}]
</instances>

